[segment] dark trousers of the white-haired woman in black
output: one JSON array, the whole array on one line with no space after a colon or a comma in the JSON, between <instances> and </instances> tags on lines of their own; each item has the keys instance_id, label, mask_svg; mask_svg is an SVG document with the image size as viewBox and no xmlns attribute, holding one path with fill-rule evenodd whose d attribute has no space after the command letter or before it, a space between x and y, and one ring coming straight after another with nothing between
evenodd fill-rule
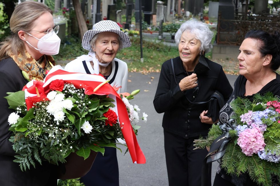
<instances>
[{"instance_id":1,"label":"dark trousers of the white-haired woman in black","mask_svg":"<svg viewBox=\"0 0 280 186\"><path fill-rule=\"evenodd\" d=\"M202 161L208 151L193 150L193 141L198 137L185 139L165 130L163 133L169 186L200 186ZM209 174L211 176L211 173Z\"/></svg>"}]
</instances>

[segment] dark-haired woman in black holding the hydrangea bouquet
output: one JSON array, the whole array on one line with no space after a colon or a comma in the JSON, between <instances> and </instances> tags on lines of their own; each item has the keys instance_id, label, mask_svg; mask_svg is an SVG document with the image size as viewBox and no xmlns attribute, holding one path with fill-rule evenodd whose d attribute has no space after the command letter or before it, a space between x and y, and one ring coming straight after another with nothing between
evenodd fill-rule
<instances>
[{"instance_id":1,"label":"dark-haired woman in black holding the hydrangea bouquet","mask_svg":"<svg viewBox=\"0 0 280 186\"><path fill-rule=\"evenodd\" d=\"M234 83L234 91L228 102L220 110L220 124L228 122L234 114L230 103L236 99L248 98L253 101L255 94L272 92L280 96L280 75L275 72L280 66L279 32L269 34L261 30L251 30L245 35L238 55L239 76ZM273 179L278 183L277 179ZM218 167L214 186L257 185L248 174L229 175L225 169Z\"/></svg>"}]
</instances>

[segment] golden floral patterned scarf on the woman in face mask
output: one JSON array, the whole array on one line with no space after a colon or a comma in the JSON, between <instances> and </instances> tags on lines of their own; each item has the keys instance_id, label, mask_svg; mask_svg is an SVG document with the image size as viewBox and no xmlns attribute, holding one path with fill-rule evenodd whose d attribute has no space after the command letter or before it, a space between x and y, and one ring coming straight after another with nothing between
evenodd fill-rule
<instances>
[{"instance_id":1,"label":"golden floral patterned scarf on the woman in face mask","mask_svg":"<svg viewBox=\"0 0 280 186\"><path fill-rule=\"evenodd\" d=\"M26 61L22 60L22 56L19 53L18 55L10 55L11 58L15 61L17 66L29 75L29 79L35 79L43 81L46 77L46 71L50 70L51 62L53 65L56 65L54 58L52 56L43 55L38 61L36 61L28 52L25 51L27 57Z\"/></svg>"}]
</instances>

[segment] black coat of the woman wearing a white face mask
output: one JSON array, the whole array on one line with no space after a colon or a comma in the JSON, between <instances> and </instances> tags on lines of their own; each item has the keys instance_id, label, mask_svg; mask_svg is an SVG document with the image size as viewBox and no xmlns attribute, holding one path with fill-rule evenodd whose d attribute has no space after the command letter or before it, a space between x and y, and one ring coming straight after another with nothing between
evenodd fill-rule
<instances>
[{"instance_id":1,"label":"black coat of the woman wearing a white face mask","mask_svg":"<svg viewBox=\"0 0 280 186\"><path fill-rule=\"evenodd\" d=\"M30 165L31 170L21 171L19 163L14 163L15 151L9 142L13 132L9 131L8 116L13 109L9 109L4 96L6 92L22 90L27 81L23 78L21 70L12 58L0 61L0 185L1 186L43 186L57 185L57 166L42 161L36 169Z\"/></svg>"}]
</instances>

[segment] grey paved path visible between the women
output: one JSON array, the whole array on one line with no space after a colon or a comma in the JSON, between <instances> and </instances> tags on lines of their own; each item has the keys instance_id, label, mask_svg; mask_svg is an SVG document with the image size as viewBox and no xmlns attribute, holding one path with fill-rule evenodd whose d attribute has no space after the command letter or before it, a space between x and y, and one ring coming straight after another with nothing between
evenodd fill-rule
<instances>
[{"instance_id":1,"label":"grey paved path visible between the women","mask_svg":"<svg viewBox=\"0 0 280 186\"><path fill-rule=\"evenodd\" d=\"M230 84L237 76L227 75ZM159 73L144 75L141 73L129 73L127 92L140 89L140 93L131 100L141 109L141 113L148 114L148 122L139 122L141 128L138 130L137 140L146 156L146 164L132 163L130 155L124 155L126 148L121 147L123 152L117 150L119 161L120 186L168 186L168 178L165 164L165 153L163 144L163 128L161 127L163 114L157 114L153 107L153 98L157 88ZM212 182L216 174L217 163L212 166Z\"/></svg>"}]
</instances>

